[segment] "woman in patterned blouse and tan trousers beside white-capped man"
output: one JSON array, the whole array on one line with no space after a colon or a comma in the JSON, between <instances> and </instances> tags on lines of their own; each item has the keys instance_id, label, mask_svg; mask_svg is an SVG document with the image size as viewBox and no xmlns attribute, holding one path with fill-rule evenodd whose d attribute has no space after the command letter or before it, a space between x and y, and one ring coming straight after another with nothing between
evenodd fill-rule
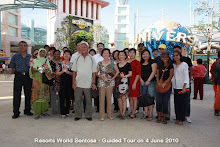
<instances>
[{"instance_id":1,"label":"woman in patterned blouse and tan trousers beside white-capped man","mask_svg":"<svg viewBox=\"0 0 220 147\"><path fill-rule=\"evenodd\" d=\"M107 115L110 120L113 120L111 114L111 98L113 87L115 86L115 77L119 74L116 64L113 60L110 60L110 50L104 48L101 52L101 56L104 58L98 63L97 72L98 75L98 87L99 87L99 117L103 121L105 118L105 97L107 101Z\"/></svg>"}]
</instances>

